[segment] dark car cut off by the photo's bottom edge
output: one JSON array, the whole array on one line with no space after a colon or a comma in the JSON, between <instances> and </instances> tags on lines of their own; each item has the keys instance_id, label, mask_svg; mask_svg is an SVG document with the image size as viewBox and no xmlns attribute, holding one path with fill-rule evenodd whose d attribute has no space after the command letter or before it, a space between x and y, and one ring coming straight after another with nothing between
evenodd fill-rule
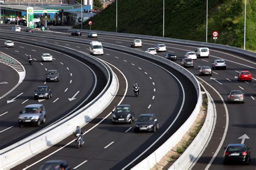
<instances>
[{"instance_id":1,"label":"dark car cut off by the photo's bottom edge","mask_svg":"<svg viewBox=\"0 0 256 170\"><path fill-rule=\"evenodd\" d=\"M49 160L44 162L44 164L39 168L39 170L46 169L69 170L71 168L65 160Z\"/></svg>"}]
</instances>

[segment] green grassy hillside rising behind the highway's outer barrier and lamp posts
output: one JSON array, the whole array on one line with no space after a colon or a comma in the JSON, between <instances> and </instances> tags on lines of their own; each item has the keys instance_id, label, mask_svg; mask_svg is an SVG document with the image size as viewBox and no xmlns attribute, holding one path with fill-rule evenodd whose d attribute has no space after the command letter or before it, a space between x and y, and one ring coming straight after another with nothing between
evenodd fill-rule
<instances>
[{"instance_id":1,"label":"green grassy hillside rising behind the highway's outer barrier and lamp posts","mask_svg":"<svg viewBox=\"0 0 256 170\"><path fill-rule=\"evenodd\" d=\"M206 1L165 1L165 37L205 42ZM247 0L246 49L256 50L256 1ZM116 31L116 4L92 17L92 30ZM89 25L83 24L84 29ZM79 26L78 26L79 28ZM244 47L244 0L208 1L208 42ZM163 36L163 0L118 0L118 32Z\"/></svg>"}]
</instances>

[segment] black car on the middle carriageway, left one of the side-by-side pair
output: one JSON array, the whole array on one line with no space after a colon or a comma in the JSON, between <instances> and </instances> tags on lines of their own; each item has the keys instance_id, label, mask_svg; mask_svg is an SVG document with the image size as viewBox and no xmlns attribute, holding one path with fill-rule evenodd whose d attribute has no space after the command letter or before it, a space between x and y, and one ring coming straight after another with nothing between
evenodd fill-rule
<instances>
[{"instance_id":1,"label":"black car on the middle carriageway, left one of the side-by-side pair","mask_svg":"<svg viewBox=\"0 0 256 170\"><path fill-rule=\"evenodd\" d=\"M129 123L134 120L134 112L130 105L118 105L114 111L112 111L112 123Z\"/></svg>"}]
</instances>

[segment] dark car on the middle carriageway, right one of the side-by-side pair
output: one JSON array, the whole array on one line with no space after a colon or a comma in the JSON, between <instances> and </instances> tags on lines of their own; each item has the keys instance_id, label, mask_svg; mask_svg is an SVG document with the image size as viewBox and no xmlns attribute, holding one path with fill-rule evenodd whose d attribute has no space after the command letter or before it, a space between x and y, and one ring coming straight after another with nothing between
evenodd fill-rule
<instances>
[{"instance_id":1,"label":"dark car on the middle carriageway, right one of the side-by-side pair","mask_svg":"<svg viewBox=\"0 0 256 170\"><path fill-rule=\"evenodd\" d=\"M135 133L139 131L156 132L156 130L159 128L158 120L153 113L140 114L138 119L135 121Z\"/></svg>"}]
</instances>

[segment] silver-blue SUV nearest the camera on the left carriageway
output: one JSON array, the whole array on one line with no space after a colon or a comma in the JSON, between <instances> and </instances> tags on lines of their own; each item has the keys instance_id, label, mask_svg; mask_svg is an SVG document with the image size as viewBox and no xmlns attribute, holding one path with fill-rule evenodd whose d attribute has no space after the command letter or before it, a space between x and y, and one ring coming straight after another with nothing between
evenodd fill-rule
<instances>
[{"instance_id":1,"label":"silver-blue SUV nearest the camera on the left carriageway","mask_svg":"<svg viewBox=\"0 0 256 170\"><path fill-rule=\"evenodd\" d=\"M43 104L31 104L27 105L20 112L18 117L18 125L37 125L45 123L46 112Z\"/></svg>"}]
</instances>

